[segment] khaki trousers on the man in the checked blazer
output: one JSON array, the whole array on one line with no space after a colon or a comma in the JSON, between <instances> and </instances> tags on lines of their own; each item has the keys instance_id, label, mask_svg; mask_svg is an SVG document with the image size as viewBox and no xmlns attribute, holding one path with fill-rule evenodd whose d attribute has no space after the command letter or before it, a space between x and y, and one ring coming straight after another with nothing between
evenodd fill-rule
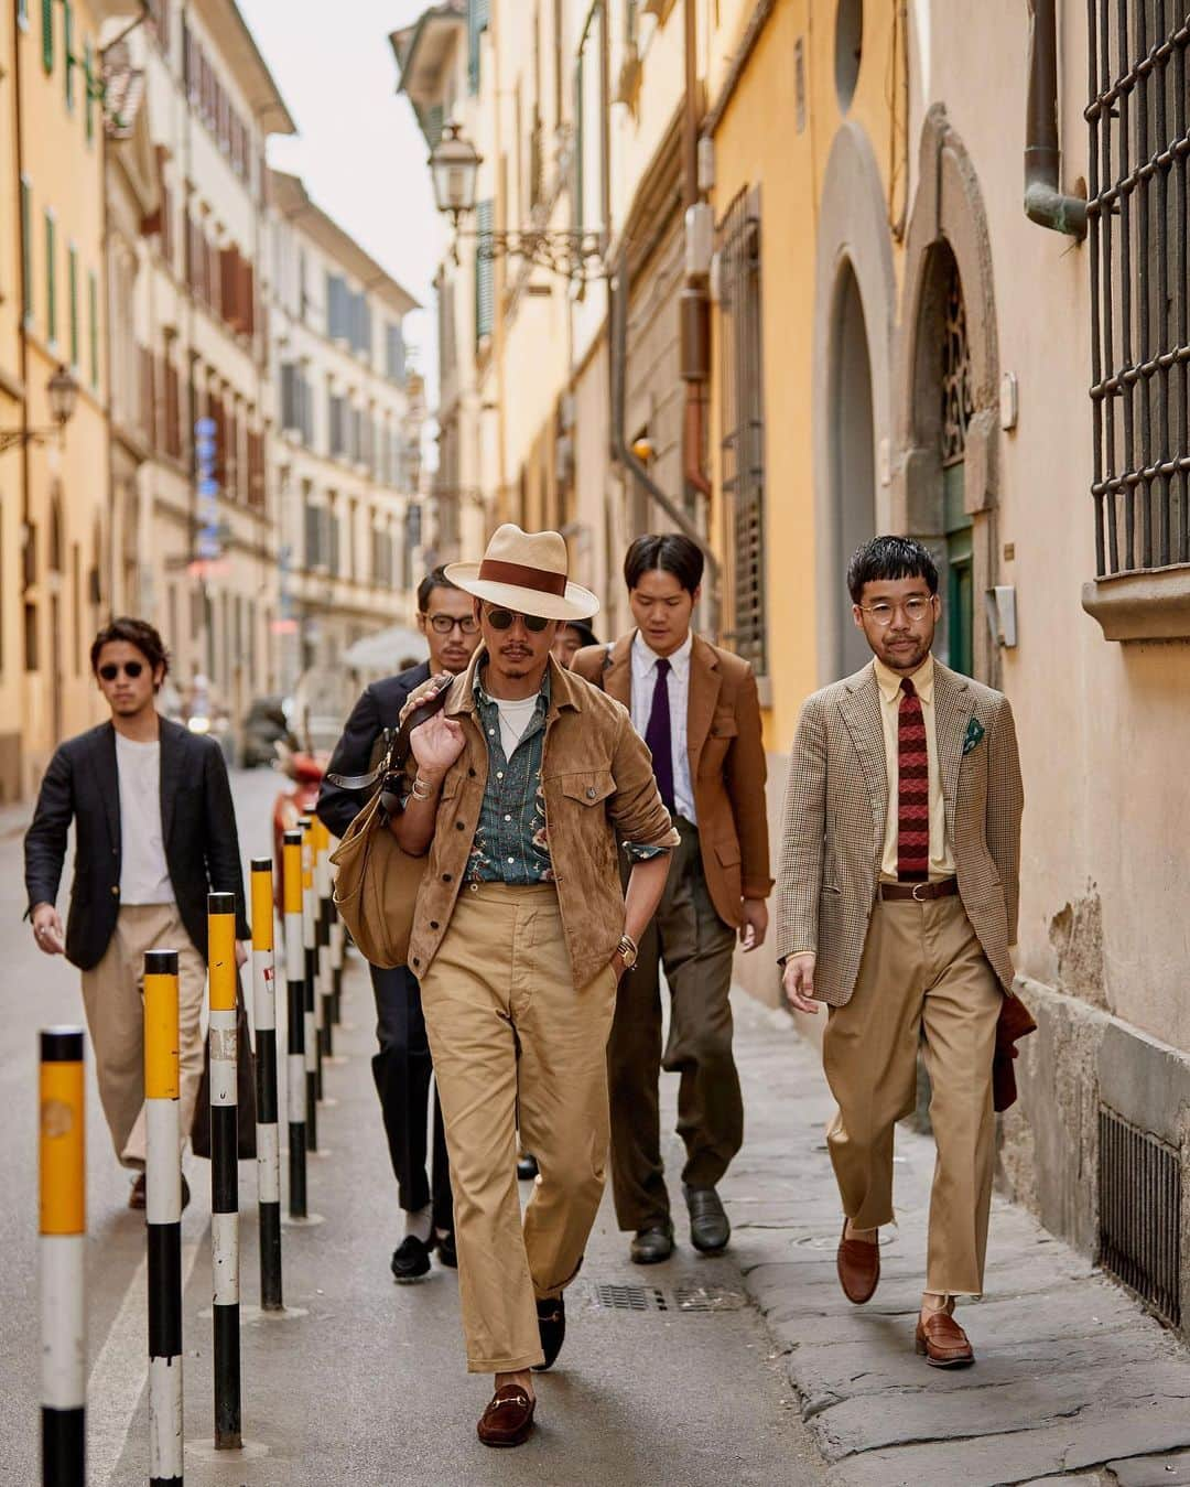
<instances>
[{"instance_id":1,"label":"khaki trousers on the man in the checked blazer","mask_svg":"<svg viewBox=\"0 0 1190 1487\"><path fill-rule=\"evenodd\" d=\"M1003 993L960 898L878 900L851 1001L832 1007L823 1068L838 1114L826 1132L844 1213L893 1222L893 1129L930 1075L937 1145L926 1289L979 1295L995 1158L992 1056Z\"/></svg>"}]
</instances>

